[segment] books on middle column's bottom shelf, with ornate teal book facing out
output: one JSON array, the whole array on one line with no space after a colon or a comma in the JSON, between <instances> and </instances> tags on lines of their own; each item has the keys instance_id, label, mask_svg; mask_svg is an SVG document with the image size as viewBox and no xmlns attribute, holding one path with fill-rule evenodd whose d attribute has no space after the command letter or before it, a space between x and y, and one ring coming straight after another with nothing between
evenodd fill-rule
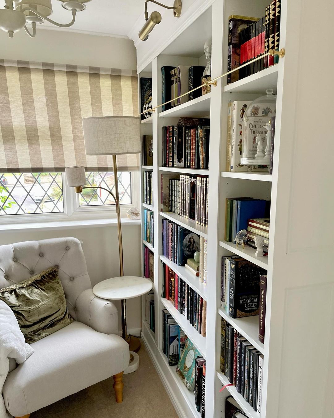
<instances>
[{"instance_id":1,"label":"books on middle column's bottom shelf, with ornate teal book facing out","mask_svg":"<svg viewBox=\"0 0 334 418\"><path fill-rule=\"evenodd\" d=\"M197 411L205 415L205 359L167 309L162 311L162 352L188 390L195 393ZM188 356L192 351L192 357ZM187 363L186 363L187 358ZM191 359L191 364L190 364Z\"/></svg>"}]
</instances>

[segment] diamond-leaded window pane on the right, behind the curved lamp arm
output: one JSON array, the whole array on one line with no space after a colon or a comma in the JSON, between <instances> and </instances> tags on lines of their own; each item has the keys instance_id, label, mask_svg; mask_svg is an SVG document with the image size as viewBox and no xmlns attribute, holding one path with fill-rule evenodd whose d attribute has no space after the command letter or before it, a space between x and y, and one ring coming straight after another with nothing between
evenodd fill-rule
<instances>
[{"instance_id":1,"label":"diamond-leaded window pane on the right, behind the curved lamp arm","mask_svg":"<svg viewBox=\"0 0 334 418\"><path fill-rule=\"evenodd\" d=\"M131 204L131 173L121 171L117 173L118 191L120 204ZM91 172L86 173L87 186L104 187L115 193L114 173ZM114 205L115 201L111 194L101 189L84 189L79 194L79 206Z\"/></svg>"}]
</instances>

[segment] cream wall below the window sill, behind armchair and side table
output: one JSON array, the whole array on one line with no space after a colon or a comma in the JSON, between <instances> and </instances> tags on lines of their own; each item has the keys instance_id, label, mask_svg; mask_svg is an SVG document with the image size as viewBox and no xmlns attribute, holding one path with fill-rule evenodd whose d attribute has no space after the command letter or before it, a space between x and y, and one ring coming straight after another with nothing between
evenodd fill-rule
<instances>
[{"instance_id":1,"label":"cream wall below the window sill, behind armchair and side table","mask_svg":"<svg viewBox=\"0 0 334 418\"><path fill-rule=\"evenodd\" d=\"M53 229L43 231L2 231L0 245L14 242L43 240L55 237L76 237L83 240L83 252L92 285L101 280L119 276L119 250L117 225L109 227L82 227L80 229ZM140 225L122 227L124 275L141 276ZM138 332L141 328L141 298L127 301L128 330ZM121 330L121 304L116 301L119 311L119 330Z\"/></svg>"}]
</instances>

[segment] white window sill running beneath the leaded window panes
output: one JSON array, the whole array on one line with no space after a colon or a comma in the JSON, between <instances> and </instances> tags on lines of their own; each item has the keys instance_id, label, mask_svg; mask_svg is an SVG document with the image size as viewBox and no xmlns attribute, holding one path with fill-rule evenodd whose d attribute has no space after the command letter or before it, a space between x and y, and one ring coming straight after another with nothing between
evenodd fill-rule
<instances>
[{"instance_id":1,"label":"white window sill running beneath the leaded window panes","mask_svg":"<svg viewBox=\"0 0 334 418\"><path fill-rule=\"evenodd\" d=\"M121 225L140 225L140 219L129 219L128 217L121 218ZM2 224L0 225L1 232L10 232L18 230L35 230L43 229L44 231L51 231L53 229L79 229L96 228L115 226L117 227L116 218L105 219L76 219L76 220L53 220L43 222L27 222L27 223L15 223L15 224Z\"/></svg>"}]
</instances>

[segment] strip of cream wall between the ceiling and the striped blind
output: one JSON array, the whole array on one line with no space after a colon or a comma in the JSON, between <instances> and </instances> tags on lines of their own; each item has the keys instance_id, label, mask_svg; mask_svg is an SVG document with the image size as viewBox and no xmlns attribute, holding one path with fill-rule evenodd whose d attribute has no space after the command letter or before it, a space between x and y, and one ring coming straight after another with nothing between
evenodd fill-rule
<instances>
[{"instance_id":1,"label":"strip of cream wall between the ceiling and the striped blind","mask_svg":"<svg viewBox=\"0 0 334 418\"><path fill-rule=\"evenodd\" d=\"M13 39L0 31L0 58L137 69L136 49L130 39L40 28L33 39L24 30L15 33Z\"/></svg>"}]
</instances>

